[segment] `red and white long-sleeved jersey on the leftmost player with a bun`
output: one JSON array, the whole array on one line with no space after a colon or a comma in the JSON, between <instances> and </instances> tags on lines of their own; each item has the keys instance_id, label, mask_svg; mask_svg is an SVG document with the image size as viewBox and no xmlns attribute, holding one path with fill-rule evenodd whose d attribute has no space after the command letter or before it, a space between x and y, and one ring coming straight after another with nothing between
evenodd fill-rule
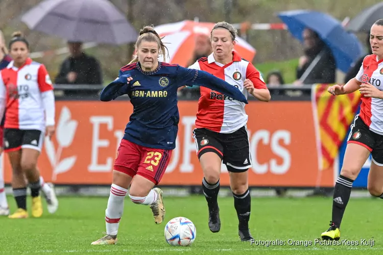
<instances>
[{"instance_id":1,"label":"red and white long-sleeved jersey on the leftmost player with a bun","mask_svg":"<svg viewBox=\"0 0 383 255\"><path fill-rule=\"evenodd\" d=\"M44 132L45 125L55 123L53 86L49 74L43 64L30 58L20 68L13 63L11 61L7 68L0 71L0 112L4 112L4 106L7 109L4 127Z\"/></svg>"}]
</instances>

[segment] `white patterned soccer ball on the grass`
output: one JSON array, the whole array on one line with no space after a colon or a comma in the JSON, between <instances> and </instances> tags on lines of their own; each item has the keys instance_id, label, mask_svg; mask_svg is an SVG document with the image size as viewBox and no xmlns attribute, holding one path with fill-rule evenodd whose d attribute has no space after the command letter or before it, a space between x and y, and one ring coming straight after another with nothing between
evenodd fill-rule
<instances>
[{"instance_id":1,"label":"white patterned soccer ball on the grass","mask_svg":"<svg viewBox=\"0 0 383 255\"><path fill-rule=\"evenodd\" d=\"M165 226L165 240L172 246L188 246L196 240L196 226L185 217L176 217Z\"/></svg>"}]
</instances>

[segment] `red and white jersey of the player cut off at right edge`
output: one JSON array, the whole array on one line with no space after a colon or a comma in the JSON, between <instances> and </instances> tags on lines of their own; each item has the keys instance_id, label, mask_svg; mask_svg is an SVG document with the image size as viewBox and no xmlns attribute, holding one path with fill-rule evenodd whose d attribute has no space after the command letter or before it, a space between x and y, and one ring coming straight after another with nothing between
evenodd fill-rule
<instances>
[{"instance_id":1,"label":"red and white jersey of the player cut off at right edge","mask_svg":"<svg viewBox=\"0 0 383 255\"><path fill-rule=\"evenodd\" d=\"M356 80L362 84L369 82L379 90L383 90L383 60L378 61L372 54L363 60L361 69L356 75ZM364 97L362 95L361 119L370 127L372 132L383 135L383 100Z\"/></svg>"}]
</instances>

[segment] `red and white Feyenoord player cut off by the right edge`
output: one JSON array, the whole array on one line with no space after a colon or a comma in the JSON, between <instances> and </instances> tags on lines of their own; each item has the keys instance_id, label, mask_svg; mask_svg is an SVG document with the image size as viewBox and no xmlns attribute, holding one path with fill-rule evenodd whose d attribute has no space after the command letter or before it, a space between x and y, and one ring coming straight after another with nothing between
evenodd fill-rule
<instances>
[{"instance_id":1,"label":"red and white Feyenoord player cut off by the right edge","mask_svg":"<svg viewBox=\"0 0 383 255\"><path fill-rule=\"evenodd\" d=\"M334 85L327 90L333 95L361 92L361 112L355 116L347 140L341 173L336 181L332 200L332 220L324 240L339 240L341 221L350 199L352 183L370 154L367 189L371 195L383 198L383 19L371 27L372 54L365 57L356 77L344 86Z\"/></svg>"}]
</instances>

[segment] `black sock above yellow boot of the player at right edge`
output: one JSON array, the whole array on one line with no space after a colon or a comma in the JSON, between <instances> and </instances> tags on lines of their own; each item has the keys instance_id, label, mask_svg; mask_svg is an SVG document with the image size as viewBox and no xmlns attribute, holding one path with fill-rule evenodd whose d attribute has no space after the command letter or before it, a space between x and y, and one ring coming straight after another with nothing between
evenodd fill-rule
<instances>
[{"instance_id":1,"label":"black sock above yellow boot of the player at right edge","mask_svg":"<svg viewBox=\"0 0 383 255\"><path fill-rule=\"evenodd\" d=\"M339 175L335 184L332 200L332 223L338 227L341 226L343 214L350 199L353 182L353 180Z\"/></svg>"}]
</instances>

